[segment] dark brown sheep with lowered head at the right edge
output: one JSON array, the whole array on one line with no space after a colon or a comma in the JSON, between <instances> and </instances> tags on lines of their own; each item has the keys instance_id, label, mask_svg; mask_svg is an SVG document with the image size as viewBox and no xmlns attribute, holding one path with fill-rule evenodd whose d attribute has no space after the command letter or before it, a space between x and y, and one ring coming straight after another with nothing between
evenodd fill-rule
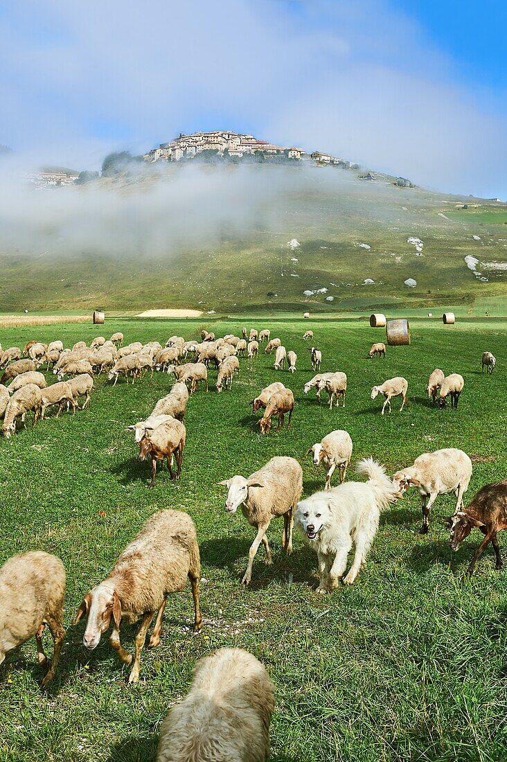
<instances>
[{"instance_id":1,"label":"dark brown sheep with lowered head at the right edge","mask_svg":"<svg viewBox=\"0 0 507 762\"><path fill-rule=\"evenodd\" d=\"M493 545L495 550L495 568L501 569L503 562L496 533L507 529L507 479L503 482L496 482L496 484L486 484L477 492L477 495L473 496L466 508L463 508L462 511L456 511L454 516L448 520L448 529L451 531L449 539L451 550L459 549L473 527L480 529L484 539L473 554L467 574L473 575L477 560L489 543Z\"/></svg>"}]
</instances>

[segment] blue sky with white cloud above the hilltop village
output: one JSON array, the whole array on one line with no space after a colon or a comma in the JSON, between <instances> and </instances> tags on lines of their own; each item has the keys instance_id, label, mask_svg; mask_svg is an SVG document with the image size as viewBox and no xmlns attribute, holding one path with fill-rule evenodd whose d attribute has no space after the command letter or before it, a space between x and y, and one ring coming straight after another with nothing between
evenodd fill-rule
<instances>
[{"instance_id":1,"label":"blue sky with white cloud above the hilltop village","mask_svg":"<svg viewBox=\"0 0 507 762\"><path fill-rule=\"evenodd\" d=\"M442 191L507 197L499 2L0 5L0 143L99 166L229 128Z\"/></svg>"}]
</instances>

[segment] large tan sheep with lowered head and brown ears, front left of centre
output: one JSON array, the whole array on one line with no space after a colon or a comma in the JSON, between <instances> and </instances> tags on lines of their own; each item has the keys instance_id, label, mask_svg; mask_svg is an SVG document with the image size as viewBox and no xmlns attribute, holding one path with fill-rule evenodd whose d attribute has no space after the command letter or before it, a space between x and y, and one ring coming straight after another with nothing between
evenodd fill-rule
<instances>
[{"instance_id":1,"label":"large tan sheep with lowered head and brown ears, front left of centre","mask_svg":"<svg viewBox=\"0 0 507 762\"><path fill-rule=\"evenodd\" d=\"M113 621L109 642L125 664L132 664L129 683L140 674L141 651L146 632L158 611L148 647L159 645L162 617L168 594L185 589L190 579L194 598L194 632L201 632L199 579L201 562L194 523L188 514L168 509L157 511L143 524L140 533L121 553L108 577L85 595L75 617L87 619L83 644L97 648L101 635ZM141 621L136 635L135 658L120 642L120 623Z\"/></svg>"}]
</instances>

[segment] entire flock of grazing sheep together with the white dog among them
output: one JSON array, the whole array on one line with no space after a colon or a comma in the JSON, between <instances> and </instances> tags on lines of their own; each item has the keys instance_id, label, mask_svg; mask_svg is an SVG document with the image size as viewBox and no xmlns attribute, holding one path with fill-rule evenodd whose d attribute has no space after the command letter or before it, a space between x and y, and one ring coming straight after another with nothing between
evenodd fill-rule
<instances>
[{"instance_id":1,"label":"entire flock of grazing sheep together with the white dog among them","mask_svg":"<svg viewBox=\"0 0 507 762\"><path fill-rule=\"evenodd\" d=\"M242 337L227 335L223 338L203 331L202 341L185 341L172 336L165 347L157 341L148 344L134 342L124 346L124 336L114 334L110 340L97 337L87 347L79 342L64 349L62 342L48 346L28 342L24 350L0 347L0 418L4 418L2 431L11 436L16 421L24 421L28 411L34 412L34 424L44 418L50 405L58 405L58 416L66 406L72 412L84 397L82 408L90 402L95 374L107 373L107 379L117 384L120 376L135 383L154 370L175 376L168 395L156 403L143 421L129 427L139 443L141 460L150 459L153 485L157 464L166 460L172 479L181 475L181 463L186 442L184 424L189 395L197 384L208 390L208 370L211 363L217 369L217 392L230 388L234 376L239 374L239 356L254 359L260 344L266 343L265 354L275 350L274 370L282 370L287 361L290 373L295 373L297 355L285 350L279 338L271 339L270 331L249 333L242 329ZM313 341L313 332L306 331L305 341ZM370 357L385 357L386 347L374 344ZM191 356L191 362L185 362ZM24 359L26 357L26 359ZM312 367L320 370L322 354L311 347ZM493 372L495 357L483 354L483 368ZM47 385L42 367L53 370L58 379ZM8 383L8 386L5 384ZM428 379L428 399L444 407L450 397L451 405L457 401L464 380L457 373L445 377L435 370ZM333 401L345 407L347 376L345 373L318 373L304 385L329 395L329 408ZM406 379L396 377L374 386L371 398L385 397L382 414L395 396L403 398L402 406L409 406ZM283 383L274 382L252 399L252 411L262 409L258 419L260 431L267 434L271 418L278 417L278 430L287 426L294 410L294 393ZM433 453L422 453L411 466L396 472L390 478L383 466L371 458L360 461L359 475L367 481L345 482L351 461L353 443L347 431L331 431L314 443L313 463L326 469L322 491L301 500L303 470L297 459L275 456L261 469L248 476L232 475L220 482L226 490L225 510L234 514L239 508L245 520L255 529L255 539L249 549L249 560L242 578L248 585L252 579L252 565L261 544L265 548L266 562L271 565L268 528L275 517L283 517L282 546L292 552L294 523L304 541L316 552L319 568L317 591L326 594L343 581L351 584L366 562L367 552L377 533L380 511L415 487L422 500L423 523L421 532L428 531L429 511L438 495L454 492L456 507L449 519L451 549L458 549L473 527L483 533L483 541L473 555L468 569L473 568L489 542L496 552L496 568L502 566L497 533L507 528L507 481L486 485L464 507L464 493L472 475L470 457L462 450L449 448ZM175 466L175 469L174 469ZM173 470L174 469L174 470ZM332 488L332 475L339 470L339 485ZM345 575L348 553L355 548L354 559ZM110 643L118 657L131 666L129 682L135 683L140 675L140 657L152 620L155 625L149 647L159 645L162 618L168 595L182 591L187 578L191 583L194 600L194 632L202 629L199 598L201 562L197 532L188 514L182 511L162 510L149 517L140 532L120 554L112 571L82 600L75 623L85 619L83 644L96 648L101 635L111 627ZM43 687L56 673L59 653L66 635L63 628L63 602L66 575L62 562L45 552L27 552L9 559L0 568L0 663L12 648L35 636L40 664L47 663L43 652L42 636L45 626L53 637L53 659ZM121 623L140 621L136 635L135 655L125 650L120 642ZM265 668L248 652L239 648L222 648L197 663L194 684L183 702L174 706L162 724L158 759L164 762L190 762L190 760L249 760L262 762L268 757L269 724L274 710L274 689ZM214 756L213 756L214 754Z\"/></svg>"}]
</instances>

